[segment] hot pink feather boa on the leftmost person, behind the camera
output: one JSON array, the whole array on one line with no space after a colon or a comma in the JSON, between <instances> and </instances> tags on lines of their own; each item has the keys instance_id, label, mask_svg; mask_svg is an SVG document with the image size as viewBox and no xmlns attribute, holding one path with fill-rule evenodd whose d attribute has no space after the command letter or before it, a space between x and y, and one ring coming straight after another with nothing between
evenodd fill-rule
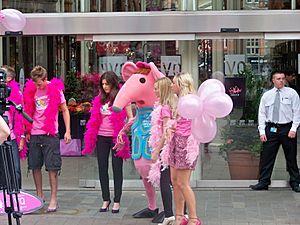
<instances>
[{"instance_id":1,"label":"hot pink feather boa on the leftmost person, behind the camera","mask_svg":"<svg viewBox=\"0 0 300 225\"><path fill-rule=\"evenodd\" d=\"M11 80L10 82L7 83L7 87L11 88L11 94L8 100L13 101L17 105L19 104L23 105L23 96L22 93L20 92L19 83L14 80ZM19 146L21 141L21 135L24 135L23 116L13 106L10 107L8 113L10 114L10 118L13 118L14 120L14 122L13 121L10 122L14 123L13 132L16 135L16 140ZM24 143L24 147L22 151L19 152L20 158L25 159L26 153L27 153L27 146Z\"/></svg>"}]
</instances>

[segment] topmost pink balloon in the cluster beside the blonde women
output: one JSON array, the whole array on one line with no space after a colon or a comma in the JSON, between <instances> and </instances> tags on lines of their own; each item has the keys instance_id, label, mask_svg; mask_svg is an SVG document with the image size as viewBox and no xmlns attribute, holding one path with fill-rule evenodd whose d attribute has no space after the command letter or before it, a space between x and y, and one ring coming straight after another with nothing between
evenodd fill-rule
<instances>
[{"instance_id":1,"label":"topmost pink balloon in the cluster beside the blonde women","mask_svg":"<svg viewBox=\"0 0 300 225\"><path fill-rule=\"evenodd\" d=\"M208 96L215 93L225 93L225 87L217 79L208 79L200 85L197 95L201 100L205 100Z\"/></svg>"}]
</instances>

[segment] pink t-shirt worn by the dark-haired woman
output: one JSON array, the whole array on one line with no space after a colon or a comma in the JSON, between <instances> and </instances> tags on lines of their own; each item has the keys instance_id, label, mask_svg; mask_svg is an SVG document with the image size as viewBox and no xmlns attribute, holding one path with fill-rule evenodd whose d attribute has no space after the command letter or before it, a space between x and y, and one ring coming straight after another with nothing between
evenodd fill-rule
<instances>
[{"instance_id":1,"label":"pink t-shirt worn by the dark-haired woman","mask_svg":"<svg viewBox=\"0 0 300 225\"><path fill-rule=\"evenodd\" d=\"M114 134L114 126L109 118L112 114L109 102L101 106L100 113L102 115L102 123L99 127L98 135L112 137Z\"/></svg>"}]
</instances>

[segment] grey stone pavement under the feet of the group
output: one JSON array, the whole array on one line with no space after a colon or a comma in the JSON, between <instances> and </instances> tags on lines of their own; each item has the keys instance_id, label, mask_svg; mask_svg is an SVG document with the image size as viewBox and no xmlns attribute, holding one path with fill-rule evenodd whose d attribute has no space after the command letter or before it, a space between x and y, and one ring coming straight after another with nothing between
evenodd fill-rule
<instances>
[{"instance_id":1,"label":"grey stone pavement under the feet of the group","mask_svg":"<svg viewBox=\"0 0 300 225\"><path fill-rule=\"evenodd\" d=\"M30 191L34 193L33 191ZM134 219L132 214L147 207L143 191L124 191L120 213L99 213L100 192L93 190L59 191L59 209L46 213L48 203L38 212L23 215L21 225L150 225L151 219ZM300 194L289 188L265 191L197 190L197 214L203 225L285 225L300 224ZM49 192L45 192L49 199ZM158 206L162 210L160 195ZM7 225L7 216L0 225ZM13 224L16 224L13 219Z\"/></svg>"}]
</instances>

